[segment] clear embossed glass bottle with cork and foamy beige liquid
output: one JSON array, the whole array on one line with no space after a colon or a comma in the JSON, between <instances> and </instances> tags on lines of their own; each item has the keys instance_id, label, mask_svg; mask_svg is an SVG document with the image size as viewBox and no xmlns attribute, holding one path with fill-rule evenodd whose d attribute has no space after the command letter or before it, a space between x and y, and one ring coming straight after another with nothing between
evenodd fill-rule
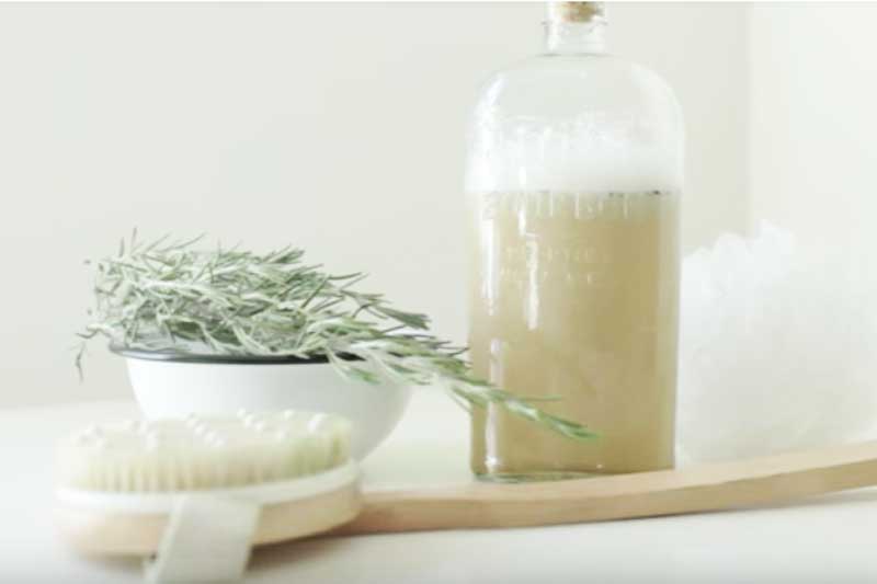
<instances>
[{"instance_id":1,"label":"clear embossed glass bottle with cork and foamy beige liquid","mask_svg":"<svg viewBox=\"0 0 877 584\"><path fill-rule=\"evenodd\" d=\"M544 51L488 80L469 128L475 371L600 434L475 409L482 479L674 465L682 115L604 25L602 3L549 3Z\"/></svg>"}]
</instances>

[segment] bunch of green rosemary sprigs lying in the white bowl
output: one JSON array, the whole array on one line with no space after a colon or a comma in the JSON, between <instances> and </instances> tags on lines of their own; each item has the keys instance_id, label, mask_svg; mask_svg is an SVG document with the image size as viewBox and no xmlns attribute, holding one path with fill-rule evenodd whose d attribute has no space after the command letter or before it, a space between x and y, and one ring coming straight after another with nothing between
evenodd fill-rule
<instances>
[{"instance_id":1,"label":"bunch of green rosemary sprigs lying in the white bowl","mask_svg":"<svg viewBox=\"0 0 877 584\"><path fill-rule=\"evenodd\" d=\"M200 251L200 240L140 243L135 232L115 256L96 262L95 306L79 333L80 373L86 343L99 335L151 351L326 356L349 378L441 383L463 405L499 404L569 438L595 437L475 377L465 350L430 334L425 314L354 289L365 274L328 274L295 248Z\"/></svg>"}]
</instances>

